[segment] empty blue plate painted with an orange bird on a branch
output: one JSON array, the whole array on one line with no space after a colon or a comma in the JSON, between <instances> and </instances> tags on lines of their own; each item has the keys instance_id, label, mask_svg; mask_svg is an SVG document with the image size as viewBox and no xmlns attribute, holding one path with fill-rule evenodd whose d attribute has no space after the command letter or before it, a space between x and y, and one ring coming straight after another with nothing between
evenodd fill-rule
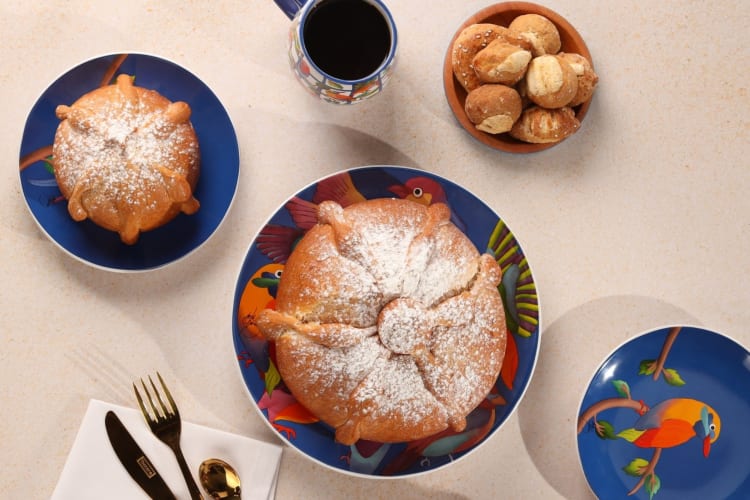
<instances>
[{"instance_id":1,"label":"empty blue plate painted with an orange bird on a branch","mask_svg":"<svg viewBox=\"0 0 750 500\"><path fill-rule=\"evenodd\" d=\"M600 498L750 498L750 352L674 326L615 350L578 412L578 453ZM631 493L628 496L628 493Z\"/></svg>"}]
</instances>

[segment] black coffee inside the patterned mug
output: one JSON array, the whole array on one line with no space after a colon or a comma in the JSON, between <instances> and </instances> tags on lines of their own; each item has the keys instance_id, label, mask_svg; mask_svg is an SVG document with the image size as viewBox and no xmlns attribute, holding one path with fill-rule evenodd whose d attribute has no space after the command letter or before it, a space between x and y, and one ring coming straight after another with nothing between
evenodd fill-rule
<instances>
[{"instance_id":1,"label":"black coffee inside the patterned mug","mask_svg":"<svg viewBox=\"0 0 750 500\"><path fill-rule=\"evenodd\" d=\"M320 2L308 13L302 36L315 65L342 80L372 74L391 48L383 14L364 0Z\"/></svg>"}]
</instances>

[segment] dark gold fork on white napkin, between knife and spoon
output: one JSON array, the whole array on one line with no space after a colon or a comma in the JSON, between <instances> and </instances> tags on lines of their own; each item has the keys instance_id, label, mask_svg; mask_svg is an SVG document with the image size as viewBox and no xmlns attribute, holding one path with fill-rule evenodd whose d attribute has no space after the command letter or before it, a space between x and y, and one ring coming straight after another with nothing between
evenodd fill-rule
<instances>
[{"instance_id":1,"label":"dark gold fork on white napkin, between knife and spoon","mask_svg":"<svg viewBox=\"0 0 750 500\"><path fill-rule=\"evenodd\" d=\"M151 392L148 390L143 379L141 379L141 385L146 393L146 399L148 400L150 411L146 408L143 398L141 398L141 393L138 392L138 387L134 383L133 390L135 391L135 397L138 399L138 404L143 412L143 417L151 428L151 432L169 446L174 452L175 457L177 457L177 463L180 464L180 470L182 471L182 475L185 478L188 490L190 491L190 498L193 500L203 500L203 496L201 496L198 485L195 484L195 480L193 479L192 474L190 474L190 468L185 462L185 456L182 454L182 449L180 448L180 433L182 431L180 412L177 410L177 405L174 403L174 399L172 399L172 395L169 393L169 389L167 389L167 385L164 383L159 372L156 372L156 376L159 378L162 389L164 389L164 394L169 402L169 408L164 404L164 401L162 401L162 398L159 395L159 390L156 388L150 375L148 381L151 383L151 388L153 389L155 398L159 403L159 409L161 409L161 412L154 404L154 400L151 398Z\"/></svg>"}]
</instances>

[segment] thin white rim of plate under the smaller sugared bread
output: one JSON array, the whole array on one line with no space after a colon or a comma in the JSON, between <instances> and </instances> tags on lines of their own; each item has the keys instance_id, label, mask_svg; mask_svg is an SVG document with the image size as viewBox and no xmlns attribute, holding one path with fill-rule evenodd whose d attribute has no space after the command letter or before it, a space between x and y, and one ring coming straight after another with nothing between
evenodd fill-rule
<instances>
[{"instance_id":1,"label":"thin white rim of plate under the smaller sugared bread","mask_svg":"<svg viewBox=\"0 0 750 500\"><path fill-rule=\"evenodd\" d=\"M175 257L171 260L167 260L165 262L157 263L154 265L148 265L148 266L139 266L135 268L128 268L128 267L114 267L114 266L107 266L98 262L93 262L91 260L88 260L80 255L76 255L73 253L70 249L63 246L56 238L54 238L47 228L41 223L41 221L37 218L36 214L31 208L31 205L29 204L28 196L26 195L26 189L24 188L24 182L23 182L23 170L18 171L18 175L16 176L17 182L18 182L18 188L21 192L21 197L23 198L23 204L26 207L26 210L28 211L29 215L31 216L32 220L36 224L36 226L40 229L40 231L47 237L49 241L51 241L54 246L56 246L58 249L60 249L65 255L68 255L69 257L73 258L75 261L80 262L82 264L85 264L91 268L101 270L101 271L108 271L116 274L140 274L140 273L146 273L150 271L155 271L158 269L163 269L165 267L171 266L172 264L176 264L178 262L183 261L184 259L188 258L189 256L194 255L199 249L201 249L206 243L208 243L218 232L219 229L224 225L224 222L226 221L232 207L234 206L235 199L237 197L237 193L239 191L239 181L240 181L240 175L242 169L241 167L241 161L242 161L242 152L240 150L239 140L237 138L237 129L234 125L234 120L232 119L231 114L229 113L229 109L224 105L222 100L219 98L219 96L213 91L213 89L203 80L203 78L199 77L197 73L195 73L192 69L187 67L184 64L178 63L168 57L164 57L161 55L157 55L155 53L151 52L145 52L145 51L121 51L121 52L101 52L98 55L86 58L84 60L81 60L75 64L69 65L66 69L59 71L57 73L57 76L50 79L46 84L43 85L42 90L37 94L37 96L32 100L31 106L29 106L28 111L26 112L26 118L23 121L23 124L21 126L21 135L20 135L20 141L18 144L18 152L16 157L20 159L22 157L22 148L23 148L23 142L24 138L26 136L26 128L29 123L29 119L31 117L31 113L34 110L34 108L39 104L39 102L42 100L42 98L45 96L47 92L49 92L50 88L57 83L61 78L65 77L72 71L77 70L83 65L93 63L94 61L97 61L99 59L105 59L108 57L117 57L120 55L126 55L126 56L139 56L139 57L147 57L154 60L157 60L162 63L168 63L172 64L181 70L187 72L189 75L191 75L193 78L195 78L202 86L204 86L215 98L218 104L221 106L223 112L227 116L227 122L229 124L229 127L232 131L232 135L234 137L234 144L236 146L237 150L237 156L235 158L236 160L236 171L237 174L234 177L234 186L232 189L232 193L230 196L227 197L227 207L224 210L224 213L221 215L219 220L216 222L215 227L211 229L211 231L207 234L207 236L203 239L203 241L199 242L198 244L194 245L190 250L186 251L182 255ZM233 167L233 169L235 169ZM200 182L200 181L199 181ZM157 228L158 229L158 228Z\"/></svg>"}]
</instances>

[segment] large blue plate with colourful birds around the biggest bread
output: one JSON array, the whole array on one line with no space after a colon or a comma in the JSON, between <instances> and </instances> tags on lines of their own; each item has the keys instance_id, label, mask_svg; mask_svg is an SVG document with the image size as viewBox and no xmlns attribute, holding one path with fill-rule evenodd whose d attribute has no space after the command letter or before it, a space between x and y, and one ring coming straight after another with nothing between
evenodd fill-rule
<instances>
[{"instance_id":1,"label":"large blue plate with colourful birds around the biggest bread","mask_svg":"<svg viewBox=\"0 0 750 500\"><path fill-rule=\"evenodd\" d=\"M295 197L313 203L333 199L345 205L346 194L354 191L367 199L402 197L425 204L443 201L451 207L453 222L477 248L490 249L497 256L504 270L500 288L509 340L495 387L468 417L463 433L396 444L359 441L345 446L335 442L333 430L312 417L286 389L273 361L273 346L255 325L258 312L273 307L286 257L304 233L287 204L255 237L237 280L232 325L240 372L263 419L291 447L320 464L367 477L439 469L480 446L518 406L539 351L536 285L520 245L495 212L460 186L427 172L393 166L356 168L321 179Z\"/></svg>"}]
</instances>

